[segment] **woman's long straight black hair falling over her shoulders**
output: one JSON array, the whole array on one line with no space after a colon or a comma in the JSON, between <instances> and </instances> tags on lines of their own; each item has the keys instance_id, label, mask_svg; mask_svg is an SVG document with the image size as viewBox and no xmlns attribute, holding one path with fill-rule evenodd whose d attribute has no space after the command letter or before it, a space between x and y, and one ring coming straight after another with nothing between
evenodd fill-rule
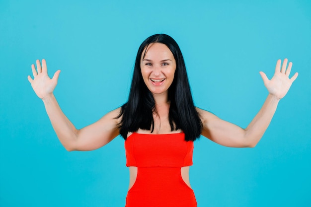
<instances>
[{"instance_id":1,"label":"woman's long straight black hair falling over her shoulders","mask_svg":"<svg viewBox=\"0 0 311 207\"><path fill-rule=\"evenodd\" d=\"M151 43L165 44L176 61L174 80L168 88L171 131L180 129L185 134L185 140L195 140L201 135L202 122L193 104L186 66L180 48L176 41L166 34L155 34L148 37L138 49L129 99L121 107L118 116L118 118L122 117L120 135L126 139L129 132L136 132L138 129L154 131L155 100L143 80L140 67L143 51Z\"/></svg>"}]
</instances>

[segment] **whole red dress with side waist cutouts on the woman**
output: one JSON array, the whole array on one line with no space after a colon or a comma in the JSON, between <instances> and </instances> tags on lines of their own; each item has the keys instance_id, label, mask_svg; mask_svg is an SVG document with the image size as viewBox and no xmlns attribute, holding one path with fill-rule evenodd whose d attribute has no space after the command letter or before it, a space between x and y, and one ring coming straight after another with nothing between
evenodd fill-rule
<instances>
[{"instance_id":1,"label":"whole red dress with side waist cutouts on the woman","mask_svg":"<svg viewBox=\"0 0 311 207\"><path fill-rule=\"evenodd\" d=\"M125 207L196 207L180 168L192 165L193 141L183 133L133 133L125 141L126 166L138 167Z\"/></svg>"}]
</instances>

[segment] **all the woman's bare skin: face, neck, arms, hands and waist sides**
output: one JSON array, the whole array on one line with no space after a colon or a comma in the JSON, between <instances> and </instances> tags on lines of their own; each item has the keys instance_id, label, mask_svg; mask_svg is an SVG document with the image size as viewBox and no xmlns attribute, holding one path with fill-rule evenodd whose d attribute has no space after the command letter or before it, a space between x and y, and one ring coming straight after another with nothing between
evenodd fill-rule
<instances>
[{"instance_id":1,"label":"all the woman's bare skin: face, neck, arms, hands and waist sides","mask_svg":"<svg viewBox=\"0 0 311 207\"><path fill-rule=\"evenodd\" d=\"M147 60L147 61L146 61ZM294 80L296 72L289 78L292 63L285 59L281 67L281 60L277 61L274 76L269 80L264 72L260 72L263 82L269 92L266 101L247 128L242 129L232 123L224 121L214 114L197 108L202 119L202 135L216 143L229 147L254 147L263 136L276 111L279 100L282 99ZM33 79L28 80L37 96L42 99L51 124L68 151L94 150L109 143L119 135L118 127L120 119L115 119L120 113L120 108L104 115L97 122L82 129L76 127L62 112L53 90L57 85L60 70L56 71L51 79L47 73L46 61L36 61L36 68L31 66ZM167 89L173 79L175 60L169 49L160 43L151 44L146 52L144 60L141 60L141 69L144 81L152 91L156 102L157 114L154 114L155 130L153 134L179 133L170 131L168 122L169 102L167 101ZM138 130L137 133L151 134L150 131ZM128 134L130 136L131 133ZM129 167L131 188L136 180L137 168ZM185 183L190 187L189 166L181 168L181 175Z\"/></svg>"}]
</instances>

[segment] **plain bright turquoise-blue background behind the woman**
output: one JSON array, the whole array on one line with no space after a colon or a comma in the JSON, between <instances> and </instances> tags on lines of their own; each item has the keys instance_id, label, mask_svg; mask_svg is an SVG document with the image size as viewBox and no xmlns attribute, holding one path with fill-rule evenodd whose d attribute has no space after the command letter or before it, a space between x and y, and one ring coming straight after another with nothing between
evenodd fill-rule
<instances>
[{"instance_id":1,"label":"plain bright turquoise-blue background behind the woman","mask_svg":"<svg viewBox=\"0 0 311 207\"><path fill-rule=\"evenodd\" d=\"M198 207L311 206L309 0L0 0L0 206L122 207L124 140L68 152L27 80L36 59L77 128L126 102L139 45L171 35L195 105L243 128L278 59L299 77L255 148L195 141L190 180Z\"/></svg>"}]
</instances>

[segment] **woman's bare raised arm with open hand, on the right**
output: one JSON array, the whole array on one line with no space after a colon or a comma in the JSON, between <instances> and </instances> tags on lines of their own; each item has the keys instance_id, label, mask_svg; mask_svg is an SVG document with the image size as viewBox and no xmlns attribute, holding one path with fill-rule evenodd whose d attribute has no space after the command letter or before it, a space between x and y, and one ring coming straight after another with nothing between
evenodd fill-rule
<instances>
[{"instance_id":1,"label":"woman's bare raised arm with open hand, on the right","mask_svg":"<svg viewBox=\"0 0 311 207\"><path fill-rule=\"evenodd\" d=\"M202 135L225 146L254 147L268 128L279 100L286 95L298 76L296 72L292 78L289 78L292 63L289 63L287 67L287 62L288 60L285 59L281 68L281 60L277 61L275 73L271 80L267 78L264 72L260 72L269 95L246 129L226 122L210 112L197 109L203 123Z\"/></svg>"}]
</instances>

